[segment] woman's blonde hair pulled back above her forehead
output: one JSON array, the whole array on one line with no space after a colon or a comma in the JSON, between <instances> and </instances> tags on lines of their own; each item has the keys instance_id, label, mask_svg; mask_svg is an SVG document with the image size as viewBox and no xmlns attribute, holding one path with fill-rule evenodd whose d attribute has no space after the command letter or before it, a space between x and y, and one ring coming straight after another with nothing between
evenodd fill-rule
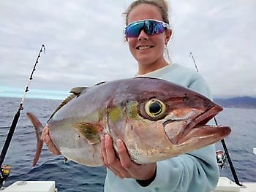
<instances>
[{"instance_id":1,"label":"woman's blonde hair pulled back above her forehead","mask_svg":"<svg viewBox=\"0 0 256 192\"><path fill-rule=\"evenodd\" d=\"M162 15L162 21L170 24L169 19L168 19L168 4L165 0L136 0L136 1L133 1L132 4L129 5L127 11L124 12L124 16L126 18L126 24L128 24L127 18L129 16L129 12L131 12L131 10L139 4L152 4L152 5L156 6Z\"/></svg>"}]
</instances>

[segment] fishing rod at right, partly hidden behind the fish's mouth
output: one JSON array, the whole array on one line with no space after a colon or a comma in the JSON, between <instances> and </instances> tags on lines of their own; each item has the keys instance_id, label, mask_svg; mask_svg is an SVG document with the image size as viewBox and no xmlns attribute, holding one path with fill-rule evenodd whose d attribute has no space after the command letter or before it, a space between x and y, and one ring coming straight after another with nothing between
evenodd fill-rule
<instances>
[{"instance_id":1,"label":"fishing rod at right, partly hidden behind the fish's mouth","mask_svg":"<svg viewBox=\"0 0 256 192\"><path fill-rule=\"evenodd\" d=\"M195 58L194 58L192 52L189 53L189 56L192 57L193 62L194 62L194 64L195 64ZM195 64L195 68L197 69L197 72L199 72L199 71L198 71L198 68L197 68L197 64ZM218 126L218 123L217 123L217 120L216 120L215 117L214 117L214 123L216 124L216 126ZM233 163L232 163L232 161L231 161L230 155L229 155L229 153L228 153L227 145L226 145L226 143L225 143L225 140L222 139L221 142L222 142L222 147L223 147L224 150L225 150L225 155L227 156L227 161L228 161L228 163L230 164L230 169L231 169L231 172L232 172L232 174L233 174L235 183L236 183L237 185L239 185L239 186L243 186L243 185L239 182L239 180L238 180L238 177L237 177L237 174L236 174L236 170L235 170L235 168L234 168L234 166L233 166Z\"/></svg>"}]
</instances>

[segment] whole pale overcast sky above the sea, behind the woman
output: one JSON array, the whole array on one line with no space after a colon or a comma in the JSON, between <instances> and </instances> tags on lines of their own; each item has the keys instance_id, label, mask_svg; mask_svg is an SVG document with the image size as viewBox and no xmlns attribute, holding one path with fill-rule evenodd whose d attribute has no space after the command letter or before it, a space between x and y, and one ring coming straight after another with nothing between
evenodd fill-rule
<instances>
[{"instance_id":1,"label":"whole pale overcast sky above the sea, behind the woman","mask_svg":"<svg viewBox=\"0 0 256 192\"><path fill-rule=\"evenodd\" d=\"M71 88L134 77L122 14L131 0L0 1L0 96L64 99ZM172 63L195 69L214 96L256 96L256 1L171 0Z\"/></svg>"}]
</instances>

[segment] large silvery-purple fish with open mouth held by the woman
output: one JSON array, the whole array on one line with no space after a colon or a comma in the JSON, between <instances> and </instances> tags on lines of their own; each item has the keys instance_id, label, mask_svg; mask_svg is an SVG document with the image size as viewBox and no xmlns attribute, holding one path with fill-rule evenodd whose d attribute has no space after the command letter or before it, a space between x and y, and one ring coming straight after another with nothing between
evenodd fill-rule
<instances>
[{"instance_id":1,"label":"large silvery-purple fish with open mouth held by the woman","mask_svg":"<svg viewBox=\"0 0 256 192\"><path fill-rule=\"evenodd\" d=\"M74 88L48 120L50 138L68 159L101 166L100 138L121 139L137 164L162 161L196 150L230 134L227 126L206 126L222 107L179 85L136 77ZM42 149L39 120L28 113Z\"/></svg>"}]
</instances>

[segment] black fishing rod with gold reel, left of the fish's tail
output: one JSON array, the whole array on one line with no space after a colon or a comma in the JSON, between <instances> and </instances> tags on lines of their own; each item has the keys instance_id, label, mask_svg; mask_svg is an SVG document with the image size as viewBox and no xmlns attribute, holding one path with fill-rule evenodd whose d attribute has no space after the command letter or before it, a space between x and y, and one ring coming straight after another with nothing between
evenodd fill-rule
<instances>
[{"instance_id":1,"label":"black fishing rod with gold reel, left of the fish's tail","mask_svg":"<svg viewBox=\"0 0 256 192\"><path fill-rule=\"evenodd\" d=\"M10 146L10 142L12 140L12 135L13 135L13 133L15 131L16 126L17 126L18 119L20 118L20 111L23 110L23 102L24 102L24 99L26 97L26 93L29 92L29 84L33 80L33 74L34 74L34 71L36 70L36 66L37 66L37 64L39 62L39 58L41 56L42 51L44 51L44 53L45 53L45 45L42 45L40 50L39 50L39 53L37 55L37 60L36 60L36 62L34 64L32 72L30 74L29 82L26 85L23 97L22 97L22 99L20 101L20 104L19 104L19 107L18 107L18 111L16 112L16 114L15 114L13 120L12 120L12 125L10 126L10 130L9 130L8 135L7 135L7 139L5 140L4 147L1 150L1 155L0 155L0 188L1 188L1 185L3 185L3 183L4 183L4 180L6 180L8 175L10 174L11 166L8 166L8 165L2 166L2 164L3 164L3 161L4 161L4 157L7 154L7 150L9 148L9 146Z\"/></svg>"}]
</instances>

